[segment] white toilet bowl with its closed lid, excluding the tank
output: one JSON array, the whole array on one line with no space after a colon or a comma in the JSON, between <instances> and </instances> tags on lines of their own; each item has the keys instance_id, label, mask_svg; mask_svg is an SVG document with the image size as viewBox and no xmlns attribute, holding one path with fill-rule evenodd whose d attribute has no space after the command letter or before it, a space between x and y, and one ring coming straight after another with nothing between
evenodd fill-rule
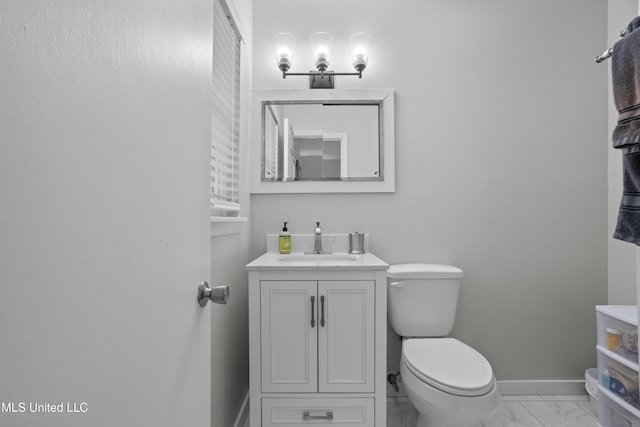
<instances>
[{"instance_id":1,"label":"white toilet bowl with its closed lid, excluding the tank","mask_svg":"<svg viewBox=\"0 0 640 427\"><path fill-rule=\"evenodd\" d=\"M477 427L498 409L489 362L453 338L403 340L400 374L417 427Z\"/></svg>"}]
</instances>

